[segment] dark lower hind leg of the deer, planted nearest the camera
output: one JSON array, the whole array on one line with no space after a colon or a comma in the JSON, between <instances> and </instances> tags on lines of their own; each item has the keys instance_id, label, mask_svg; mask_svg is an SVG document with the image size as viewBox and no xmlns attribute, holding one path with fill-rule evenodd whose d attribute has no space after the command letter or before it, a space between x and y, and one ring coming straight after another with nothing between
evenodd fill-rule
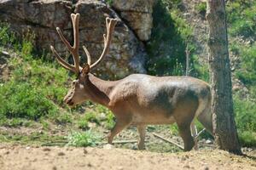
<instances>
[{"instance_id":1,"label":"dark lower hind leg of the deer, planted nearest the camera","mask_svg":"<svg viewBox=\"0 0 256 170\"><path fill-rule=\"evenodd\" d=\"M180 136L183 139L183 143L184 143L184 151L189 151L192 150L193 146L195 145L194 139L191 136L191 131L190 131L190 127L188 126L184 126L184 125L178 125L178 130L180 133Z\"/></svg>"}]
</instances>

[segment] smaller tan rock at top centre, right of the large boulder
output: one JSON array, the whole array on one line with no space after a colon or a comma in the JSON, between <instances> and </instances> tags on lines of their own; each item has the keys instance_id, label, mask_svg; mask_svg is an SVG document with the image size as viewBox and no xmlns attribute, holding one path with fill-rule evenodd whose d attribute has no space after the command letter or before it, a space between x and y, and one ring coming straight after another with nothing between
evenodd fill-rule
<instances>
[{"instance_id":1,"label":"smaller tan rock at top centre, right of the large boulder","mask_svg":"<svg viewBox=\"0 0 256 170\"><path fill-rule=\"evenodd\" d=\"M112 7L136 32L142 41L148 41L153 26L153 6L155 0L113 0Z\"/></svg>"}]
</instances>

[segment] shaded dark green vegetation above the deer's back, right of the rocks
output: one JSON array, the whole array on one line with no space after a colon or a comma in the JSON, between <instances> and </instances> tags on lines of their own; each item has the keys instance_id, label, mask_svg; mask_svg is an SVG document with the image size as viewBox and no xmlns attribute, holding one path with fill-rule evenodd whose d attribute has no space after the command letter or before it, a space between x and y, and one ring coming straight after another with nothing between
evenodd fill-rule
<instances>
[{"instance_id":1,"label":"shaded dark green vegetation above the deer's back, right of the rocks","mask_svg":"<svg viewBox=\"0 0 256 170\"><path fill-rule=\"evenodd\" d=\"M154 27L147 44L151 75L184 75L185 49L192 28L181 17L181 11L176 8L178 3L180 1L158 1L154 6ZM166 10L166 6L170 8Z\"/></svg>"}]
</instances>

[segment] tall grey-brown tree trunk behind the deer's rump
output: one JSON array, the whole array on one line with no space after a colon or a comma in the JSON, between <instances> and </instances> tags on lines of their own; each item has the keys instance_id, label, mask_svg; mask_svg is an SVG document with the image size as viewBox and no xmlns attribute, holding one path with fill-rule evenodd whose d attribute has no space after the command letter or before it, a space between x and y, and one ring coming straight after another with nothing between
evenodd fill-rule
<instances>
[{"instance_id":1,"label":"tall grey-brown tree trunk behind the deer's rump","mask_svg":"<svg viewBox=\"0 0 256 170\"><path fill-rule=\"evenodd\" d=\"M213 134L218 148L241 154L234 119L224 0L207 0Z\"/></svg>"}]
</instances>

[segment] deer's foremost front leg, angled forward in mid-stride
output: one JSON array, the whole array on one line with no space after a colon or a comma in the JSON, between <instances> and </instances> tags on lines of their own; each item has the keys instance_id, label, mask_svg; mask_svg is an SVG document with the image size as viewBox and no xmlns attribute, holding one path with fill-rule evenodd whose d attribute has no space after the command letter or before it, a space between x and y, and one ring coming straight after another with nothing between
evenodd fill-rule
<instances>
[{"instance_id":1,"label":"deer's foremost front leg, angled forward in mid-stride","mask_svg":"<svg viewBox=\"0 0 256 170\"><path fill-rule=\"evenodd\" d=\"M125 127L128 127L131 124L131 121L118 121L115 123L113 129L108 134L108 144L112 144L113 137L120 133Z\"/></svg>"}]
</instances>

